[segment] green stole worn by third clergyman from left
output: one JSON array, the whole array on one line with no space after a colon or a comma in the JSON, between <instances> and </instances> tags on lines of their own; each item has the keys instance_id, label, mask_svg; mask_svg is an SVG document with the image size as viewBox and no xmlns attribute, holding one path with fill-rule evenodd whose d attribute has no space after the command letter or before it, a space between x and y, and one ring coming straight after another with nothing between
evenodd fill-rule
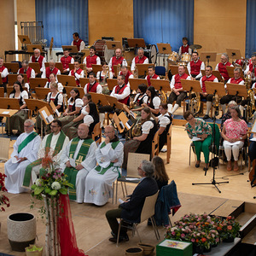
<instances>
[{"instance_id":1,"label":"green stole worn by third clergyman from left","mask_svg":"<svg viewBox=\"0 0 256 256\"><path fill-rule=\"evenodd\" d=\"M70 149L69 149L69 157L73 158L73 154L76 151L76 148L78 147L78 143L79 143L79 137L75 137L72 140L72 143L70 145ZM94 140L91 138L88 139L84 139L84 142L81 145L81 148L79 149L79 154L76 157L75 163L76 165L81 164L89 151L90 145L91 143L93 143ZM64 173L67 174L67 181L68 183L72 183L73 184L73 188L69 188L69 198L71 200L76 200L77 199L77 193L76 193L76 178L77 178L77 174L78 174L79 170L77 170L74 167L66 167L64 170Z\"/></svg>"}]
</instances>

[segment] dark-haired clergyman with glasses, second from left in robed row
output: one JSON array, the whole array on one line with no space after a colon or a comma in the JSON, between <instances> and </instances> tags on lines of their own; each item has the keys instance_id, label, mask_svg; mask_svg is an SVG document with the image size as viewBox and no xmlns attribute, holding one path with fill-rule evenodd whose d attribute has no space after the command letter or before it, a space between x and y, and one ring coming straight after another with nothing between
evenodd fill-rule
<instances>
[{"instance_id":1,"label":"dark-haired clergyman with glasses, second from left in robed row","mask_svg":"<svg viewBox=\"0 0 256 256\"><path fill-rule=\"evenodd\" d=\"M26 166L23 186L30 187L35 182L39 173L44 171L42 160L45 156L50 155L57 166L61 165L61 154L69 142L68 137L61 131L61 121L54 119L50 124L50 131L43 139L38 150L38 160Z\"/></svg>"}]
</instances>

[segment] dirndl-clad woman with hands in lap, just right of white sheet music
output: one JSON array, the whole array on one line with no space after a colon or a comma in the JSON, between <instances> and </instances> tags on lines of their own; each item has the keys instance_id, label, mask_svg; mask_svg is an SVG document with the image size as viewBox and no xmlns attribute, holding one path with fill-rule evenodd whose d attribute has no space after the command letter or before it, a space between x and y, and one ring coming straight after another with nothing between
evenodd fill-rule
<instances>
[{"instance_id":1,"label":"dirndl-clad woman with hands in lap, just right of white sheet music","mask_svg":"<svg viewBox=\"0 0 256 256\"><path fill-rule=\"evenodd\" d=\"M83 107L83 101L80 99L80 93L77 88L73 88L70 91L71 97L67 101L67 109L62 114L62 117L59 118L61 121L62 127L73 121L81 112Z\"/></svg>"}]
</instances>

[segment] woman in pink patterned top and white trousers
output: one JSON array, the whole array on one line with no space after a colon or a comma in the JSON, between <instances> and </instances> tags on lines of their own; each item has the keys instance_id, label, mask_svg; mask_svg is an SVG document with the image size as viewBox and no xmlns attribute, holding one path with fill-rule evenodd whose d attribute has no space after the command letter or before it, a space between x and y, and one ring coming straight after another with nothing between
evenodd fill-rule
<instances>
[{"instance_id":1,"label":"woman in pink patterned top and white trousers","mask_svg":"<svg viewBox=\"0 0 256 256\"><path fill-rule=\"evenodd\" d=\"M228 160L227 171L232 170L231 154L234 156L234 171L238 171L237 160L239 149L242 148L247 138L247 123L240 119L241 113L238 106L230 109L231 118L224 122L221 136L224 138L224 151Z\"/></svg>"}]
</instances>

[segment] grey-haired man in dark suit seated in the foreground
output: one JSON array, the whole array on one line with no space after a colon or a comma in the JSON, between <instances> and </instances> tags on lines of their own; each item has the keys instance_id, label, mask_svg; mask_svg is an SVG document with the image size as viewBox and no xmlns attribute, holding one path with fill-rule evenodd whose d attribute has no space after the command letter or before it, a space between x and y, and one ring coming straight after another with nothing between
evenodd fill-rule
<instances>
[{"instance_id":1,"label":"grey-haired man in dark suit seated in the foreground","mask_svg":"<svg viewBox=\"0 0 256 256\"><path fill-rule=\"evenodd\" d=\"M145 198L150 195L154 195L158 190L158 185L154 175L154 165L148 160L143 160L140 166L137 168L138 175L141 178L141 182L133 190L130 199L119 205L119 208L109 210L106 212L106 218L108 224L112 230L113 237L109 238L109 241L116 242L119 230L119 223L117 218L123 218L125 221L139 223L141 212ZM128 241L125 228L121 228L119 241Z\"/></svg>"}]
</instances>

